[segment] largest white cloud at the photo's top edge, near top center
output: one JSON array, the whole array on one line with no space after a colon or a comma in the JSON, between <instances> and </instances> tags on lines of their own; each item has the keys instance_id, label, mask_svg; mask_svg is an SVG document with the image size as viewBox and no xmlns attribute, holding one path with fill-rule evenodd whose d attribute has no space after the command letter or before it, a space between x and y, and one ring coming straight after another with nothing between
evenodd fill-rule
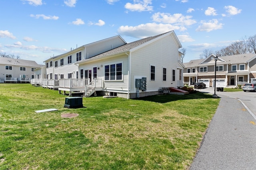
<instances>
[{"instance_id":1,"label":"largest white cloud at the photo's top edge, near top center","mask_svg":"<svg viewBox=\"0 0 256 170\"><path fill-rule=\"evenodd\" d=\"M153 11L153 6L149 6L149 4L152 4L152 0L134 0L134 4L131 4L130 2L126 3L124 8L130 11ZM136 3L138 2L138 3Z\"/></svg>"}]
</instances>

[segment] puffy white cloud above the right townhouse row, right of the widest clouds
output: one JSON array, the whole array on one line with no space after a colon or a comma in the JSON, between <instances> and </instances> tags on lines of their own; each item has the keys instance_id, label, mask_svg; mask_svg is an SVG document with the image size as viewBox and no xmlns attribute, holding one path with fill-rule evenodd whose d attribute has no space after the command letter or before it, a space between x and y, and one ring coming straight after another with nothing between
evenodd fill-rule
<instances>
[{"instance_id":1,"label":"puffy white cloud above the right townhouse row, right of the widest clouds","mask_svg":"<svg viewBox=\"0 0 256 170\"><path fill-rule=\"evenodd\" d=\"M201 23L202 25L198 26L196 31L210 32L216 29L222 29L222 26L224 25L223 23L219 23L216 19L210 20L209 22L201 21Z\"/></svg>"}]
</instances>

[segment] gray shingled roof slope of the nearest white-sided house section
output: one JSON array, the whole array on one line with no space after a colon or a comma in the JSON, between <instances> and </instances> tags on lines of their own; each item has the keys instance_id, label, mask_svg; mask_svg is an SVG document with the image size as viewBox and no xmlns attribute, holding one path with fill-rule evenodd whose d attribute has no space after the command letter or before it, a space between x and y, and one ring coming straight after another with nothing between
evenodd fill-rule
<instances>
[{"instance_id":1,"label":"gray shingled roof slope of the nearest white-sided house section","mask_svg":"<svg viewBox=\"0 0 256 170\"><path fill-rule=\"evenodd\" d=\"M170 32L170 31L169 31ZM168 32L166 32L168 33ZM138 47L139 45L142 45L152 39L155 39L157 37L160 37L161 35L164 35L166 33L162 33L162 34L159 34L159 35L155 35L155 36L152 36L152 37L147 37L147 38L144 38L144 39L140 39L138 41L134 41L132 43L127 43L125 45L122 45L120 47L117 47L115 49L112 49L110 51L106 51L104 53L101 53L99 55L96 55L94 57L91 57L89 59L86 59L84 61L89 61L89 60L92 60L92 59L98 59L98 58L101 58L101 57L105 57L105 56L108 56L108 55L113 55L113 54L118 54L118 53L122 53L122 52L126 52L126 51L129 51L130 49L133 49L135 47Z\"/></svg>"}]
</instances>

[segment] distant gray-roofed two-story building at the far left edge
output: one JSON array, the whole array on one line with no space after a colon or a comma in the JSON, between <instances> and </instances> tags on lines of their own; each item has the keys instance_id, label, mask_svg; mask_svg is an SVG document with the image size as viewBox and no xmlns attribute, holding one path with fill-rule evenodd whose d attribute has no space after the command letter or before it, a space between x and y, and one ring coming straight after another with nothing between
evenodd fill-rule
<instances>
[{"instance_id":1,"label":"distant gray-roofed two-story building at the far left edge","mask_svg":"<svg viewBox=\"0 0 256 170\"><path fill-rule=\"evenodd\" d=\"M29 83L40 66L35 61L0 57L0 82Z\"/></svg>"}]
</instances>

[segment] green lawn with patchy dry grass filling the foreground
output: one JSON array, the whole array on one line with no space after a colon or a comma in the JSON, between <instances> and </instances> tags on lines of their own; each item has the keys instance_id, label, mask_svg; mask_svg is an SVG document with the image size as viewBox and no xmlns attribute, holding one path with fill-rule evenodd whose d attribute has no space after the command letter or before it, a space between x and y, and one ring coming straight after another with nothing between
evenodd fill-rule
<instances>
[{"instance_id":1,"label":"green lawn with patchy dry grass filling the foreground","mask_svg":"<svg viewBox=\"0 0 256 170\"><path fill-rule=\"evenodd\" d=\"M185 170L220 100L200 92L90 97L84 108L69 109L65 97L30 84L0 84L0 170ZM35 113L49 108L58 111Z\"/></svg>"}]
</instances>

